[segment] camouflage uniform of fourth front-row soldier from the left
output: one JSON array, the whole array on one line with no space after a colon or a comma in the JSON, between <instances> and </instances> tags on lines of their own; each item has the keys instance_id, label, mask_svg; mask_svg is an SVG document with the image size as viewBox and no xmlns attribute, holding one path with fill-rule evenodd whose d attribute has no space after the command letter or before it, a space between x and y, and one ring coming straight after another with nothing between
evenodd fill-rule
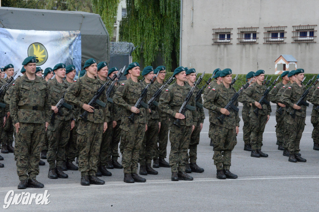
<instances>
[{"instance_id":1,"label":"camouflage uniform of fourth front-row soldier from the left","mask_svg":"<svg viewBox=\"0 0 319 212\"><path fill-rule=\"evenodd\" d=\"M174 118L175 114L178 113L190 90L191 87L187 83L185 83L184 86L181 86L175 82L165 90L159 99L159 109L171 115L170 127L168 129L169 141L171 142L169 165L171 166L172 172L185 172L185 164L188 156L187 150L192 133L192 126L197 125L197 113L195 110L186 110L185 119L180 120L181 128L173 124L176 120ZM195 106L193 95L188 104L190 106Z\"/></svg>"}]
</instances>

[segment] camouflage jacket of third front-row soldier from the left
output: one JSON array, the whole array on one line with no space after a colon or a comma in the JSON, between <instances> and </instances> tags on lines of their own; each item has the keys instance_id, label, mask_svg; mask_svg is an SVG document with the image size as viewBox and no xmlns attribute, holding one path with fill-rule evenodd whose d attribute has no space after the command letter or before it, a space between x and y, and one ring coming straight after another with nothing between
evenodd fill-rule
<instances>
[{"instance_id":1,"label":"camouflage jacket of third front-row soldier from the left","mask_svg":"<svg viewBox=\"0 0 319 212\"><path fill-rule=\"evenodd\" d=\"M134 106L141 95L141 91L144 89L144 86L140 81L134 82L131 78L122 82L121 86L115 91L113 96L113 103L123 107L122 123L131 124L129 120L132 112L130 111L131 107ZM146 95L148 96L148 95ZM144 99L144 102L147 102L148 97ZM146 103L147 104L147 103ZM134 124L147 124L149 120L149 110L144 107L141 107L139 114L134 115Z\"/></svg>"}]
</instances>

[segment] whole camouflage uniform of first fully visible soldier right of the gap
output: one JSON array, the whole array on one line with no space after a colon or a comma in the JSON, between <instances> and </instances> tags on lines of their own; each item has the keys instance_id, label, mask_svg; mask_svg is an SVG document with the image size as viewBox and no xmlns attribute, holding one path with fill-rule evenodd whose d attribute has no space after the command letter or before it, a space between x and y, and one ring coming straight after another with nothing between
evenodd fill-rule
<instances>
[{"instance_id":1,"label":"whole camouflage uniform of first fully visible soldier right of the gap","mask_svg":"<svg viewBox=\"0 0 319 212\"><path fill-rule=\"evenodd\" d=\"M254 113L257 108L255 101L258 102L260 100L266 89L265 85L259 85L254 82L243 91L242 100L247 104L252 104L249 113L251 123L250 145L252 150L261 149L263 146L263 131L265 130L267 115L271 113L271 106L266 104L263 105L263 109L258 111L258 116ZM269 95L267 95L266 99L270 101Z\"/></svg>"}]
</instances>

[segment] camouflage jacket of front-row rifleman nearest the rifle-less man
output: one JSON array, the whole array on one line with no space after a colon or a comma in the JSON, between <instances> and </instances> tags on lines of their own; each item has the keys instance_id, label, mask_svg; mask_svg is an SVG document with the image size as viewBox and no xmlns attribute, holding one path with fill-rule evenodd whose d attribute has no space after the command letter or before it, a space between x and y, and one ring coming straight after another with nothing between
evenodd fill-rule
<instances>
[{"instance_id":1,"label":"camouflage jacket of front-row rifleman nearest the rifle-less man","mask_svg":"<svg viewBox=\"0 0 319 212\"><path fill-rule=\"evenodd\" d=\"M103 85L102 81L94 77L94 79L89 78L87 74L79 78L75 83L72 83L65 93L65 100L67 102L73 103L80 108L79 115L85 110L82 108L84 104L88 104L94 97L98 89ZM101 95L100 101L107 104L107 99L105 95ZM81 119L80 116L77 119ZM96 124L103 124L104 122L110 121L110 112L108 111L108 105L102 107L96 105L93 113L88 113L87 120L94 122Z\"/></svg>"}]
</instances>

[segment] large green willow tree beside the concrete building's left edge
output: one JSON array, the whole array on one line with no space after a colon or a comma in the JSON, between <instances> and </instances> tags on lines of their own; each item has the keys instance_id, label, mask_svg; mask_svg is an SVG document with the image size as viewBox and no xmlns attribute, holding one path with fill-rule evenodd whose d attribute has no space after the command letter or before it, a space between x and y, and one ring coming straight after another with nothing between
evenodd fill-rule
<instances>
[{"instance_id":1,"label":"large green willow tree beside the concrete building's left edge","mask_svg":"<svg viewBox=\"0 0 319 212\"><path fill-rule=\"evenodd\" d=\"M120 23L119 39L138 45L133 57L151 65L161 53L167 70L172 57L179 63L180 0L126 0L127 17Z\"/></svg>"}]
</instances>

